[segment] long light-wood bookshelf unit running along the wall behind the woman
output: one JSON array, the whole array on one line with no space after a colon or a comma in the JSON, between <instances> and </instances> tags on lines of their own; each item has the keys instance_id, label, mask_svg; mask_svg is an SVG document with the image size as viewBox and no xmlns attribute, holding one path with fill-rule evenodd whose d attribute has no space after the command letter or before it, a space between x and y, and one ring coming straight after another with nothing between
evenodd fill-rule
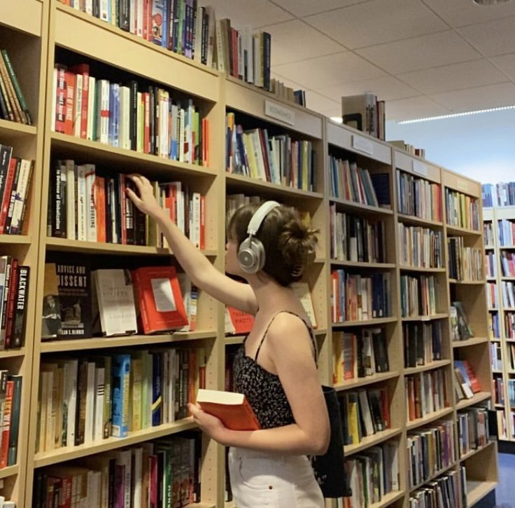
<instances>
[{"instance_id":1,"label":"long light-wood bookshelf unit running along the wall behind the woman","mask_svg":"<svg viewBox=\"0 0 515 508\"><path fill-rule=\"evenodd\" d=\"M3 7L0 12L0 43L0 46L6 46L12 53L19 69L20 81L27 83L25 92L35 119L34 125L0 121L0 144L12 143L20 156L36 161L30 198L32 213L29 214L26 231L12 238L0 237L2 254L15 254L31 267L29 306L34 309L34 312L29 314L24 347L20 350L0 352L1 366L15 369L24 376L18 461L17 465L0 469L1 495L15 500L18 508L29 507L32 505L34 476L41 468L68 465L74 460L85 460L91 455L118 451L126 446L179 434L193 428L191 420L183 418L173 423L129 432L127 437L121 439L109 437L94 441L92 444L38 451L35 436L38 431L39 379L41 366L48 359L64 355L102 355L104 352L135 350L138 347L202 345L207 352L206 385L221 389L225 381L225 353L230 348L240 345L243 340L241 336L225 336L223 306L201 293L196 331L153 336L138 334L43 341L39 317L42 315L43 273L45 259L48 256L87 256L94 267L130 268L143 264L174 263L173 255L159 247L87 242L48 236L50 171L52 161L57 158L71 158L94 163L99 167L108 166L113 172L141 172L160 181L180 180L203 193L206 196L207 210L204 254L220 270L223 270L225 252L225 221L222 218L225 217L225 202L228 195L259 195L262 199L276 199L287 205L294 205L303 212L309 212L311 225L320 231L316 260L307 270L305 277L311 290L318 325L316 338L320 351L320 380L323 383L333 383L340 397L347 397L348 394L360 390L383 390L390 413L391 421L386 429L363 437L357 444L347 444L345 447L346 458L350 460L367 453L374 446L390 446L398 453L399 486L384 495L380 502L374 503L374 508L405 507L416 488L439 474L458 472L460 465L463 464L467 468L468 506L472 506L495 488L495 443L487 444L477 451L470 451L461 458L456 453L454 460L449 460L444 467L414 486L409 486L406 474L409 470L407 446L410 437L441 422L456 422L458 411L471 406L491 404L490 387L493 374L489 360L485 277L478 280L451 280L447 270L448 238L463 238L466 247L481 249L483 252L481 231L474 231L459 224L451 226L447 224L445 214L445 190L480 199L481 188L477 182L444 170L435 163L411 156L362 132L334 123L313 111L291 102L283 102L270 92L157 47L113 25L65 6L57 0L8 2L7 7ZM52 69L56 63L82 62L89 63L92 75L98 78L125 81L134 77L145 83L152 82L165 87L178 97L192 98L202 114L209 119L209 165L178 162L52 132ZM309 191L300 190L227 172L227 113L234 113L237 123L245 129L266 128L271 135L285 133L292 139L309 141L313 151L317 153L316 163L313 165L313 188ZM381 200L386 199L388 205L379 206L378 203L378 206L375 206L367 202L334 197L331 193L330 156L348 160L365 168L369 171L371 179L378 178L381 181L381 178L384 178L381 175L386 175L388 184L382 187ZM435 214L428 214L427 210L420 214L411 213L400 207L401 199L404 198L400 187L397 186L397 174L421 181L421 185L425 186L423 188L429 189L429 195L439 192L441 199L435 204ZM381 204L384 205L383 202ZM354 260L349 256L347 259L332 256L331 210L348 217L360 217L368 221L367 224L383 224L381 227L388 241L385 242L382 259L367 261ZM487 217L485 214L485 218ZM479 224L482 224L481 211ZM435 235L441 238L439 265L427 264L425 261L406 261L405 253L401 250L401 232L403 235L413 235L422 231L425 231L424 234L428 235L428 238ZM496 244L493 246L500 249ZM356 277L387 277L390 312L374 317L361 316L362 319L334 319L330 303L334 270L344 270L346 274ZM432 280L435 280L437 289L432 297L435 298L436 307L432 312L402 315L402 277L411 277L411 280L419 282L423 277L426 277L425 280L434 277ZM499 278L497 282L500 283ZM449 305L453 298L463 301L474 328L474 337L466 341L451 341ZM498 312L503 313L506 310L500 305ZM403 329L433 326L441 328L439 358L424 364L407 366L404 358ZM380 329L386 340L388 371L334 382L335 338L341 334L355 334L361 337L362 331L374 329ZM502 349L505 365L508 344L509 342L505 341L505 348ZM481 391L474 394L472 399L457 401L454 397L453 362L458 358L469 360L481 383ZM447 400L447 404L409 420L406 384L410 379L422 379L423 376L443 376L446 380L444 399ZM502 376L507 379L509 373L505 372ZM509 418L508 413L506 417ZM457 450L457 446L455 448ZM190 508L224 506L225 450L204 438L202 459L202 502L191 504ZM336 504L327 501L327 507L334 508ZM226 506L230 507L230 503Z\"/></svg>"}]
</instances>

